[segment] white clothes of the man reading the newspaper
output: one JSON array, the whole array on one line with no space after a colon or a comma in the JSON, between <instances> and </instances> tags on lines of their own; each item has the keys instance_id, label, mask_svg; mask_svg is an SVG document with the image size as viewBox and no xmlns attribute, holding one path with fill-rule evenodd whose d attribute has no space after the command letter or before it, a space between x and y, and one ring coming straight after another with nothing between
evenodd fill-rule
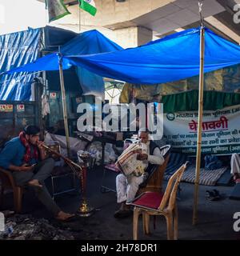
<instances>
[{"instance_id":1,"label":"white clothes of the man reading the newspaper","mask_svg":"<svg viewBox=\"0 0 240 256\"><path fill-rule=\"evenodd\" d=\"M161 151L158 147L154 149L154 154L150 155L150 142L146 143L148 158L144 160L145 170L148 163L154 165L162 165L164 158L162 157ZM117 190L117 201L118 202L131 202L138 192L138 186L143 182L144 175L140 177L130 176L126 177L123 174L118 174L116 177L116 190Z\"/></svg>"}]
</instances>

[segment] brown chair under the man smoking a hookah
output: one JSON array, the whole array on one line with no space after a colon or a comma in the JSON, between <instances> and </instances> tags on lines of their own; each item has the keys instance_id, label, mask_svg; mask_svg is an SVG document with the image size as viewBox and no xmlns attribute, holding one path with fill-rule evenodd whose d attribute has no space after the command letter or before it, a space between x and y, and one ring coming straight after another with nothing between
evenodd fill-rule
<instances>
[{"instance_id":1,"label":"brown chair under the man smoking a hookah","mask_svg":"<svg viewBox=\"0 0 240 256\"><path fill-rule=\"evenodd\" d=\"M2 180L0 203L3 204L4 190L6 190L7 188L11 188L14 193L14 210L16 213L20 213L22 210L22 187L16 185L14 177L10 170L4 170L0 167L0 178Z\"/></svg>"}]
</instances>

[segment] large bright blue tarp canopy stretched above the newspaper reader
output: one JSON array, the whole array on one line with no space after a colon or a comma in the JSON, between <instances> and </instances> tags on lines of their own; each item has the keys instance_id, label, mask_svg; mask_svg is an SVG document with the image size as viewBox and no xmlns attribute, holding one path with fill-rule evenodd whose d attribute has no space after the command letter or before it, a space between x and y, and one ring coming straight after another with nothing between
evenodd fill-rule
<instances>
[{"instance_id":1,"label":"large bright blue tarp canopy stretched above the newspaper reader","mask_svg":"<svg viewBox=\"0 0 240 256\"><path fill-rule=\"evenodd\" d=\"M81 66L106 78L135 84L178 81L199 74L200 28L185 30L144 46L106 54L65 55L63 68ZM240 46L205 28L204 72L240 63ZM53 66L54 68L54 66ZM33 70L45 70L45 65ZM11 70L30 70L30 65Z\"/></svg>"}]
</instances>

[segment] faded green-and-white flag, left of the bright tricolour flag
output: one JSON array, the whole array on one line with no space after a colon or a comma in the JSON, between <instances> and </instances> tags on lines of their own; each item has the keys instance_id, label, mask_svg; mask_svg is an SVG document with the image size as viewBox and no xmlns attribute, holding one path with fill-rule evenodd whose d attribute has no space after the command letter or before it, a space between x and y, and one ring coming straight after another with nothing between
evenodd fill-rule
<instances>
[{"instance_id":1,"label":"faded green-and-white flag, left of the bright tricolour flag","mask_svg":"<svg viewBox=\"0 0 240 256\"><path fill-rule=\"evenodd\" d=\"M46 0L46 8L48 10L49 22L53 22L58 18L70 14L63 0Z\"/></svg>"}]
</instances>

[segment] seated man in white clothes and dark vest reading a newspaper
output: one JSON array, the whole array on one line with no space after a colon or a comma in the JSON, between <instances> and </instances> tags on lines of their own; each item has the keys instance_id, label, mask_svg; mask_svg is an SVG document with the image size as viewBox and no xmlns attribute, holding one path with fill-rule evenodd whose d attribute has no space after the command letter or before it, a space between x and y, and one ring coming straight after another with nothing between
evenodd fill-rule
<instances>
[{"instance_id":1,"label":"seated man in white clothes and dark vest reading a newspaper","mask_svg":"<svg viewBox=\"0 0 240 256\"><path fill-rule=\"evenodd\" d=\"M138 159L142 160L145 170L150 164L162 165L164 158L161 155L159 147L152 141L149 140L148 132L140 132L140 142L146 148L146 152L142 152L138 155ZM116 189L117 189L117 200L121 203L120 209L114 214L115 218L124 218L131 214L130 206L126 203L132 201L138 192L138 186L144 181L145 174L141 176L129 176L126 177L124 174L118 174L116 178Z\"/></svg>"}]
</instances>

